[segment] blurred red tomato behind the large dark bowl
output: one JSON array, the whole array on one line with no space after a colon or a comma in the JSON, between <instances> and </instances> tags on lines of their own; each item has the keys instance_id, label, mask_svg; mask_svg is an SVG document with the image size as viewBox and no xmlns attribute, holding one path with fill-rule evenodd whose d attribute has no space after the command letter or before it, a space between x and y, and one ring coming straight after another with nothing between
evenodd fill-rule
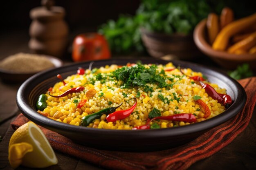
<instances>
[{"instance_id":1,"label":"blurred red tomato behind the large dark bowl","mask_svg":"<svg viewBox=\"0 0 256 170\"><path fill-rule=\"evenodd\" d=\"M98 33L84 33L77 35L74 39L72 59L75 62L109 58L110 50L103 35Z\"/></svg>"}]
</instances>

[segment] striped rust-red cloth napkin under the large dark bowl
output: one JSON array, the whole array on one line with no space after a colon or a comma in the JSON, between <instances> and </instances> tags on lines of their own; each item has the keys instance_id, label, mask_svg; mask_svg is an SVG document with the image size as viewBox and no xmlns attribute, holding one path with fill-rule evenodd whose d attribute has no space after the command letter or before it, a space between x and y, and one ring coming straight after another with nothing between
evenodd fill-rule
<instances>
[{"instance_id":1,"label":"striped rust-red cloth napkin under the large dark bowl","mask_svg":"<svg viewBox=\"0 0 256 170\"><path fill-rule=\"evenodd\" d=\"M252 117L256 103L256 77L239 80L247 93L245 108L234 118L209 130L188 144L157 152L117 152L97 150L74 143L56 132L40 127L52 148L79 159L114 170L185 170L198 160L210 157L240 134ZM29 121L20 114L11 124L13 129Z\"/></svg>"}]
</instances>

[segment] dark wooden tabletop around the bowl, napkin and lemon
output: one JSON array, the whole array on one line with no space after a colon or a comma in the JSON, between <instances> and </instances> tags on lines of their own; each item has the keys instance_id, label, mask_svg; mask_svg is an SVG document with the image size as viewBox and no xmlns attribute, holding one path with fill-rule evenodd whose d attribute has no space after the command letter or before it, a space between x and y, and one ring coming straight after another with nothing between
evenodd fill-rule
<instances>
[{"instance_id":1,"label":"dark wooden tabletop around the bowl, napkin and lemon","mask_svg":"<svg viewBox=\"0 0 256 170\"><path fill-rule=\"evenodd\" d=\"M27 47L28 35L24 32L14 32L0 36L0 60L4 57L18 53L29 52ZM18 37L18 38L17 38ZM68 62L67 62L68 63ZM210 60L201 61L202 64L212 65ZM215 66L215 65L214 65ZM0 169L11 170L8 162L8 144L14 130L10 123L16 118L16 93L20 84L7 84L0 81ZM99 167L56 152L58 164L43 170L105 170ZM29 168L18 167L17 170ZM228 146L207 159L194 163L188 170L256 170L256 109L249 126Z\"/></svg>"}]
</instances>

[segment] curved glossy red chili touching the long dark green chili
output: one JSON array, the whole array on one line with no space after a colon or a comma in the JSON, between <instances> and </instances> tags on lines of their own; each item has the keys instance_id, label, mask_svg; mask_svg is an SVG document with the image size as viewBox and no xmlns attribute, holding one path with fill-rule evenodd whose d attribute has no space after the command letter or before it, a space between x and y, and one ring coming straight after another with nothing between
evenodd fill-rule
<instances>
[{"instance_id":1,"label":"curved glossy red chili touching the long dark green chili","mask_svg":"<svg viewBox=\"0 0 256 170\"><path fill-rule=\"evenodd\" d=\"M113 122L113 121L124 119L132 113L132 111L136 108L136 105L137 105L137 100L135 99L135 104L133 104L133 106L131 108L129 108L127 110L115 111L114 113L109 114L106 117L106 120L108 122L110 122L110 121Z\"/></svg>"}]
</instances>

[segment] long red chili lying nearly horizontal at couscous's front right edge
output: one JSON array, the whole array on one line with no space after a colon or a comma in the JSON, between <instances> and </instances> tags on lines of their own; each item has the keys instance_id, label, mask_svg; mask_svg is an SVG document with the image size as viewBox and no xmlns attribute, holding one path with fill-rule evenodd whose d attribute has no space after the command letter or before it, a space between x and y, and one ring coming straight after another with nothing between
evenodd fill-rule
<instances>
[{"instance_id":1,"label":"long red chili lying nearly horizontal at couscous's front right edge","mask_svg":"<svg viewBox=\"0 0 256 170\"><path fill-rule=\"evenodd\" d=\"M154 117L150 121L147 121L146 125L143 126L137 126L135 128L132 128L132 130L137 130L137 129L150 129L150 122L155 120L155 119L163 119L163 120L173 120L173 121L185 121L185 122L195 122L196 118L192 113L180 113L177 115L171 115L171 116L159 116L159 117Z\"/></svg>"}]
</instances>

